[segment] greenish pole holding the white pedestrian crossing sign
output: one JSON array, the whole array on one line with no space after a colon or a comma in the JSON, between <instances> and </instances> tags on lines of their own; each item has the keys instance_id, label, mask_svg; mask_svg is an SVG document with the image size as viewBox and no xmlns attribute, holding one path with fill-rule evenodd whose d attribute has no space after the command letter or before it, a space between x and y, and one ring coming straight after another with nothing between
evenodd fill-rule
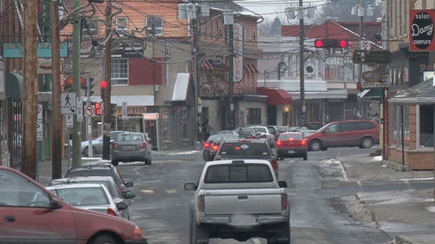
<instances>
[{"instance_id":1,"label":"greenish pole holding the white pedestrian crossing sign","mask_svg":"<svg viewBox=\"0 0 435 244\"><path fill-rule=\"evenodd\" d=\"M81 0L74 0L74 9L81 7ZM80 50L81 50L81 21L77 20L73 23L72 29L72 91L76 96L81 96L80 88ZM80 104L77 104L80 106ZM76 120L72 126L72 165L81 166L81 122ZM67 135L69 138L69 135Z\"/></svg>"}]
</instances>

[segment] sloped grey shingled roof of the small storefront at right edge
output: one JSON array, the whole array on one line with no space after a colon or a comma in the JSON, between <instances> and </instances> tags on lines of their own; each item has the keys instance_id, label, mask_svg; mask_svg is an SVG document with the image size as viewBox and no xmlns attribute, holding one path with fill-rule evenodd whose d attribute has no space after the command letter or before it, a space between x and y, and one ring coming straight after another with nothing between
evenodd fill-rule
<instances>
[{"instance_id":1,"label":"sloped grey shingled roof of the small storefront at right edge","mask_svg":"<svg viewBox=\"0 0 435 244\"><path fill-rule=\"evenodd\" d=\"M391 104L435 104L434 78L427 79L388 100Z\"/></svg>"}]
</instances>

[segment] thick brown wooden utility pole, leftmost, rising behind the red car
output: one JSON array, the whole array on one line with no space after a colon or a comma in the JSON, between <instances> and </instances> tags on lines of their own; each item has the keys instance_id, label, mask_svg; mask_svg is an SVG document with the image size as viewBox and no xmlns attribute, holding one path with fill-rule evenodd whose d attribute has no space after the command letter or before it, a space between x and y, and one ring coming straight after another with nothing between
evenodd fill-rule
<instances>
[{"instance_id":1,"label":"thick brown wooden utility pole, leftmost, rising behind the red car","mask_svg":"<svg viewBox=\"0 0 435 244\"><path fill-rule=\"evenodd\" d=\"M24 1L25 28L24 32L24 60L25 79L22 83L22 151L21 171L32 179L36 179L37 170L37 142L36 142L36 106L38 103L38 33L36 16L36 1Z\"/></svg>"}]
</instances>

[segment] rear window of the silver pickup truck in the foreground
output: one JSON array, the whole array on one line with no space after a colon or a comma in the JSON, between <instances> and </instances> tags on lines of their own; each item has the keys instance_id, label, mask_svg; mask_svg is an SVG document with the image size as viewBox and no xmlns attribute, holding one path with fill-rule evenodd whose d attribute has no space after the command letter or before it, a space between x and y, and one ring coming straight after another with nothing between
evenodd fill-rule
<instances>
[{"instance_id":1,"label":"rear window of the silver pickup truck in the foreground","mask_svg":"<svg viewBox=\"0 0 435 244\"><path fill-rule=\"evenodd\" d=\"M273 182L267 165L234 164L215 165L208 168L204 183Z\"/></svg>"}]
</instances>

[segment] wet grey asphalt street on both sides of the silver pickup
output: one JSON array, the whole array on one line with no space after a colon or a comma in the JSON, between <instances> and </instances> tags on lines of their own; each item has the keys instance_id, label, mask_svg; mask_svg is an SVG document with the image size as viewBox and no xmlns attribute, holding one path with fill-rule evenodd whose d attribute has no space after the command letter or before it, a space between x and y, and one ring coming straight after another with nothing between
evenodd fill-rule
<instances>
[{"instance_id":1,"label":"wet grey asphalt street on both sides of the silver pickup","mask_svg":"<svg viewBox=\"0 0 435 244\"><path fill-rule=\"evenodd\" d=\"M343 196L361 191L406 190L397 182L346 182L339 165L328 163L337 156L373 152L374 149L335 148L309 152L308 161L286 158L279 161L280 180L288 182L291 243L388 243L391 238L379 229L364 226L347 212ZM153 156L152 165L120 164L126 181L135 182L133 222L149 238L149 244L189 243L188 203L193 196L183 189L186 182L197 182L204 161L201 152ZM429 188L433 182L413 182L413 189ZM210 244L239 243L210 239ZM267 243L252 238L245 243Z\"/></svg>"}]
</instances>

